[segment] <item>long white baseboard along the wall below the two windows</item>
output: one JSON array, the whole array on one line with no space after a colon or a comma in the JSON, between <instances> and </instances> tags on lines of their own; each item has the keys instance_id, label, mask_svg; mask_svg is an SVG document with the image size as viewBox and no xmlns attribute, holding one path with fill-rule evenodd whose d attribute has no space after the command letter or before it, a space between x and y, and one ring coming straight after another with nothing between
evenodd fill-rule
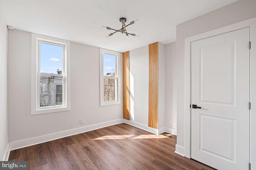
<instances>
[{"instance_id":1,"label":"long white baseboard along the wall below the two windows","mask_svg":"<svg viewBox=\"0 0 256 170\"><path fill-rule=\"evenodd\" d=\"M113 121L107 121L107 122L104 122L104 123L88 125L88 126L79 127L79 128L76 128L76 129L70 129L70 130L67 130L67 131L61 131L61 132L52 133L52 134L48 134L48 135L43 135L43 136L39 136L39 137L34 137L34 138L30 138L30 139L24 139L24 140L21 140L21 141L15 141L15 142L9 143L9 150L20 149L20 148L36 145L36 144L39 144L39 143L53 141L53 140L60 139L60 138L63 138L63 137L68 137L68 136L76 135L76 134L79 134L79 133L93 131L95 129L100 129L100 128L103 128L103 127L116 125L116 124L120 124L120 123L124 123L124 120L123 119L117 119L117 120L113 120Z\"/></svg>"}]
</instances>

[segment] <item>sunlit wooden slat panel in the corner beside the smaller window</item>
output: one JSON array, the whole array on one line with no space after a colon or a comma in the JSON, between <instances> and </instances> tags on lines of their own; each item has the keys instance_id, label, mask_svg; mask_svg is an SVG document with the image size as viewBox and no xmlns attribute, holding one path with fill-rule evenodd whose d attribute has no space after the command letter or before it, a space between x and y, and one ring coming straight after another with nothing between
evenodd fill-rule
<instances>
[{"instance_id":1,"label":"sunlit wooden slat panel in the corner beside the smaller window","mask_svg":"<svg viewBox=\"0 0 256 170\"><path fill-rule=\"evenodd\" d=\"M124 96L124 119L130 120L130 67L129 51L123 53L123 96Z\"/></svg>"}]
</instances>

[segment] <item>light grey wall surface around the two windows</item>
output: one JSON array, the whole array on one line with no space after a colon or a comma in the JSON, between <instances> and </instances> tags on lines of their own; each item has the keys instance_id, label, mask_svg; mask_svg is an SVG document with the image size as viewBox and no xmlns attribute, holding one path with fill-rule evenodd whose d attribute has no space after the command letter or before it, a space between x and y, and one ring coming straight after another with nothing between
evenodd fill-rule
<instances>
[{"instance_id":1,"label":"light grey wall surface around the two windows","mask_svg":"<svg viewBox=\"0 0 256 170\"><path fill-rule=\"evenodd\" d=\"M122 119L122 86L121 104L100 107L100 49L73 42L70 46L71 110L31 115L31 33L8 31L9 143ZM120 70L122 82L122 64Z\"/></svg>"}]
</instances>

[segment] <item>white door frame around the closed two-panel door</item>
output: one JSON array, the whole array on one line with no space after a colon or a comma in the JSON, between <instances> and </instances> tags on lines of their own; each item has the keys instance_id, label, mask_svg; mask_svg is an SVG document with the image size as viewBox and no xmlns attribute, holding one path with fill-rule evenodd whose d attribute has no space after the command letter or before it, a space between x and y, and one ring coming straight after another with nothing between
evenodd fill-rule
<instances>
[{"instance_id":1,"label":"white door frame around the closed two-panel door","mask_svg":"<svg viewBox=\"0 0 256 170\"><path fill-rule=\"evenodd\" d=\"M205 39L208 37L212 37L212 36L220 35L223 33L236 31L238 29L250 27L250 41L251 41L251 44L254 45L254 43L256 43L256 22L255 21L256 21L256 17L251 18L249 20L240 21L238 23L234 23L231 25L227 25L225 27L221 27L218 29L214 29L211 31L207 31L204 33L200 33L198 35L194 35L194 36L185 38L185 56L184 56L185 57L185 81L184 81L184 87L185 87L184 156L185 157L191 158L191 108L190 108L190 104L191 104L191 60L190 60L191 59L191 43L193 41L198 41L200 39ZM255 26L253 25L253 23ZM254 40L252 39L252 36L254 36L254 38L253 38ZM248 47L249 47L249 42L248 42ZM251 47L253 47L253 46L251 46ZM256 45L255 45L255 47L256 47ZM254 56L254 57L252 57L252 56ZM254 52L253 52L253 50L251 50L250 58L251 58L250 62L255 63L254 65L256 66L256 49L254 49ZM253 61L252 58L255 58L255 61ZM256 68L254 70L256 72ZM251 71L252 70L250 70L250 72ZM255 77L256 77L256 75L255 75ZM251 79L250 87L252 86L253 82L255 82L253 85L256 86L256 78L254 78L255 80L252 80L252 78L250 78L250 79ZM253 93L254 93L254 95L252 95ZM256 100L256 92L251 91L251 88L250 88L250 101L251 101L251 96L255 96L254 98ZM256 107L256 102L255 102L255 107ZM251 114L252 112L255 112L255 114L252 115ZM256 139L256 125L254 125L254 124L256 124L256 111L253 111L253 109L251 109L250 110L250 141L251 141L251 139L253 139L254 141ZM254 125L254 127L251 127L251 125ZM252 136L253 134L255 136ZM254 149L254 150L251 150L251 149ZM250 145L250 160L254 160L254 159L256 160L256 147L252 148Z\"/></svg>"}]
</instances>

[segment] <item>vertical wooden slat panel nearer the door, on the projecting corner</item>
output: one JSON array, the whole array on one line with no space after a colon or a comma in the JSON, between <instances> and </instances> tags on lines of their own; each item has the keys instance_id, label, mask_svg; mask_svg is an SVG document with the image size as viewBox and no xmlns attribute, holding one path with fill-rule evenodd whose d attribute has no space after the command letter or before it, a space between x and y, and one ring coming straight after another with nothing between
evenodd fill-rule
<instances>
[{"instance_id":1,"label":"vertical wooden slat panel nearer the door, on the projecting corner","mask_svg":"<svg viewBox=\"0 0 256 170\"><path fill-rule=\"evenodd\" d=\"M158 129L158 42L148 45L148 126Z\"/></svg>"}]
</instances>

